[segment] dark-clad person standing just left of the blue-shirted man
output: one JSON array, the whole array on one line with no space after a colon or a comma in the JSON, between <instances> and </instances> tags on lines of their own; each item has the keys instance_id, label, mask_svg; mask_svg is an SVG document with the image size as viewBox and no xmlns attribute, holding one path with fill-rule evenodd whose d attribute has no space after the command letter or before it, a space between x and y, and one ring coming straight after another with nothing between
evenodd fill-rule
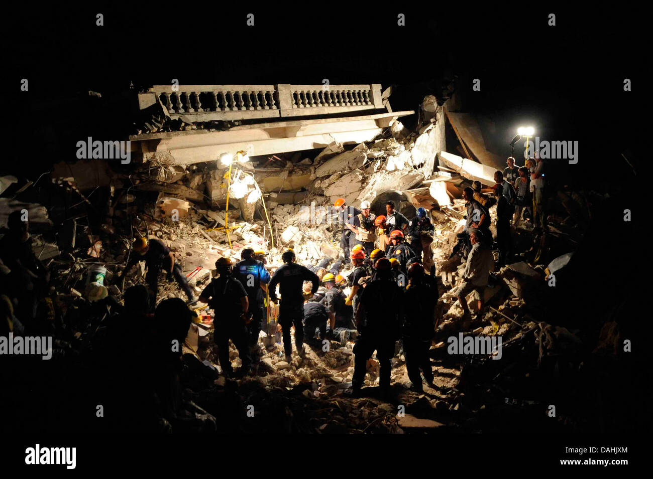
<instances>
[{"instance_id":1,"label":"dark-clad person standing just left of the blue-shirted man","mask_svg":"<svg viewBox=\"0 0 653 479\"><path fill-rule=\"evenodd\" d=\"M229 360L231 340L238 349L242 362L238 375L246 375L251 368L247 323L252 319L247 291L242 283L234 278L229 258L222 257L215 261L215 269L219 276L204 288L200 301L207 303L215 312L214 340L223 373L227 376L234 375Z\"/></svg>"}]
</instances>

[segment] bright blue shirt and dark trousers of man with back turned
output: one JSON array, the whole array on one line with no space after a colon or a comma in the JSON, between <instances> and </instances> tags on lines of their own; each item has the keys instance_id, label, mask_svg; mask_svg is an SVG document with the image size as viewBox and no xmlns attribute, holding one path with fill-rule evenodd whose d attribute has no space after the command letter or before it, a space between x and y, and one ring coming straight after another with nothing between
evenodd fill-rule
<instances>
[{"instance_id":1,"label":"bright blue shirt and dark trousers of man with back turned","mask_svg":"<svg viewBox=\"0 0 653 479\"><path fill-rule=\"evenodd\" d=\"M265 269L263 261L257 259L243 259L234 265L234 278L247 291L251 322L247 325L249 331L249 345L253 346L259 341L259 334L263 328L264 293L261 283L270 282L270 274Z\"/></svg>"}]
</instances>

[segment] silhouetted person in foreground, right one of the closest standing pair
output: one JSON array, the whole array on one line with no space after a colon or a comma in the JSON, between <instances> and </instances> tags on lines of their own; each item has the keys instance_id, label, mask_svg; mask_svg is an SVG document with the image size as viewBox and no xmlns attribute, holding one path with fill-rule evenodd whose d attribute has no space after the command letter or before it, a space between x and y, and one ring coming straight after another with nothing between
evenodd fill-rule
<instances>
[{"instance_id":1,"label":"silhouetted person in foreground, right one of the closest standing pair","mask_svg":"<svg viewBox=\"0 0 653 479\"><path fill-rule=\"evenodd\" d=\"M434 319L438 304L438 287L424 274L424 267L412 263L408 267L408 285L402 290L400 319L409 388L422 392L422 377L433 386L433 369L428 356L434 336Z\"/></svg>"}]
</instances>

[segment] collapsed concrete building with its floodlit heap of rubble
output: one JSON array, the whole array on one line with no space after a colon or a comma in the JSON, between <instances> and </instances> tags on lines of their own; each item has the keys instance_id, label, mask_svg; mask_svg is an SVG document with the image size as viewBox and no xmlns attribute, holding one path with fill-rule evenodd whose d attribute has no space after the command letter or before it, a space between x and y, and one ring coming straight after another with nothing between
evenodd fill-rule
<instances>
[{"instance_id":1,"label":"collapsed concrete building with its floodlit heap of rubble","mask_svg":"<svg viewBox=\"0 0 653 479\"><path fill-rule=\"evenodd\" d=\"M143 282L143 269L118 275L136 237L163 240L199 293L215 275L219 257L240 259L246 247L263 250L271 271L282 264L287 248L304 265L336 259L338 230L321 207L342 197L354 206L370 201L372 212L383 214L385 202L392 200L407 218L424 207L435 226L440 294L430 351L435 388L426 394L402 390L397 399L406 405L402 416L393 403L343 398L351 386L353 343L334 343L328 351L309 348L306 357L287 362L274 304L267 305L263 358L255 375L227 380L213 344L212 319L218 312L203 309L183 345L185 407L193 421L182 430L487 431L502 430L492 417L497 411L514 428L526 427L518 426L523 418L528 424L544 418L549 402L532 392L535 381L559 376L562 369L565 385L572 383L588 347L597 355L618 354L614 324L605 323L600 340L590 345L581 329L552 321L545 306L550 278L560 280L573 267L592 208L602 198L559 189L550 199L549 240L534 242L528 223L517 227L513 240L520 253L494 272L485 291L485 314L462 321L462 308L449 294L464 270L463 259L453 252L465 224L462 190L472 181L494 184L494 171L503 169L505 160L486 149L474 116L458 111L452 99L427 96L415 126L408 128L401 120L415 111L392 111L389 96L379 84L156 85L131 95L136 107L127 137L129 164L71 159L55 164L49 178L39 178L65 192L65 205L23 201L21 193L34 184L3 177L10 197L2 198L0 219L6 224L9 212L26 209L33 250L55 273L52 313L44 319L53 330L65 331L56 336L55 356L74 360L74 351L92 348L110 314L91 314L93 303L108 297L119 303L127 287ZM231 156L237 152L242 161L236 163ZM225 155L231 161L221 161ZM494 219L496 208L490 214ZM89 281L98 268L103 280ZM159 280L157 302L182 294L175 283ZM492 360L496 351L451 356L447 338L459 333L500 336L503 361ZM230 354L238 364L233 346ZM404 362L398 344L392 360L395 385L407 380ZM373 358L366 385L378 381ZM247 404L261 405L251 422L234 414ZM548 430L583 427L573 414L559 417Z\"/></svg>"}]
</instances>

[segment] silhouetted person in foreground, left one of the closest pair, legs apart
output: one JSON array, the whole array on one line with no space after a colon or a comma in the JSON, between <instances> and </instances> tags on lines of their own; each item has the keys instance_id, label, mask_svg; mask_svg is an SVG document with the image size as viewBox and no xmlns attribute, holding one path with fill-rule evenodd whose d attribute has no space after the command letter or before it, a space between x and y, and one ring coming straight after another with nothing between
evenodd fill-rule
<instances>
[{"instance_id":1,"label":"silhouetted person in foreground, left one of the closest pair, legs apart","mask_svg":"<svg viewBox=\"0 0 653 479\"><path fill-rule=\"evenodd\" d=\"M399 336L401 290L392 278L390 261L387 258L377 260L376 270L375 280L363 289L360 304L355 310L358 338L353 349L355 360L351 395L354 397L360 396L366 365L374 351L381 367L381 393L385 396L390 390L390 361Z\"/></svg>"}]
</instances>

